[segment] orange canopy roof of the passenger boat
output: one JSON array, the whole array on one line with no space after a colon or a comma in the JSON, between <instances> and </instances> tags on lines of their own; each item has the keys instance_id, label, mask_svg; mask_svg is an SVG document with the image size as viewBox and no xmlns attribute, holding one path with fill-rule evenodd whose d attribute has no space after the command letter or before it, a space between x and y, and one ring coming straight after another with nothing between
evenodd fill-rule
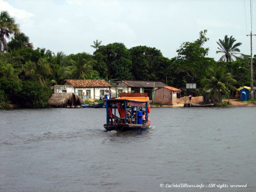
<instances>
[{"instance_id":1,"label":"orange canopy roof of the passenger boat","mask_svg":"<svg viewBox=\"0 0 256 192\"><path fill-rule=\"evenodd\" d=\"M140 103L148 102L148 93L120 93L120 97L108 99L108 102L135 101Z\"/></svg>"}]
</instances>

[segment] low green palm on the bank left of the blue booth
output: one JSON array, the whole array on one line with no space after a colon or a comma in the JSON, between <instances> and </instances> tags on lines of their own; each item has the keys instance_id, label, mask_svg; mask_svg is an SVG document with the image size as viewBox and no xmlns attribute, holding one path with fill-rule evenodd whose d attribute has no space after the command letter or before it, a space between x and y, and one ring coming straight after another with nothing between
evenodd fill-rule
<instances>
[{"instance_id":1,"label":"low green palm on the bank left of the blue booth","mask_svg":"<svg viewBox=\"0 0 256 192\"><path fill-rule=\"evenodd\" d=\"M221 102L221 93L225 95L229 95L230 90L236 90L236 87L230 85L235 83L236 80L233 79L233 75L231 73L226 73L225 68L223 66L217 65L214 68L209 68L209 78L202 79L202 83L206 84L204 87L205 91L209 91L208 94L217 98L219 102Z\"/></svg>"}]
</instances>

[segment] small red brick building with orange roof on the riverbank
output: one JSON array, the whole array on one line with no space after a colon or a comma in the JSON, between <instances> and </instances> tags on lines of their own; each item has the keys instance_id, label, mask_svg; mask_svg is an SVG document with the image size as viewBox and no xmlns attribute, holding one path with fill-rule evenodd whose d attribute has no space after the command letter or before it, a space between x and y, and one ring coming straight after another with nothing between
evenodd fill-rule
<instances>
[{"instance_id":1,"label":"small red brick building with orange roof on the riverbank","mask_svg":"<svg viewBox=\"0 0 256 192\"><path fill-rule=\"evenodd\" d=\"M169 86L158 88L155 90L155 102L164 105L177 105L177 101L180 98L180 92L180 89Z\"/></svg>"}]
</instances>

